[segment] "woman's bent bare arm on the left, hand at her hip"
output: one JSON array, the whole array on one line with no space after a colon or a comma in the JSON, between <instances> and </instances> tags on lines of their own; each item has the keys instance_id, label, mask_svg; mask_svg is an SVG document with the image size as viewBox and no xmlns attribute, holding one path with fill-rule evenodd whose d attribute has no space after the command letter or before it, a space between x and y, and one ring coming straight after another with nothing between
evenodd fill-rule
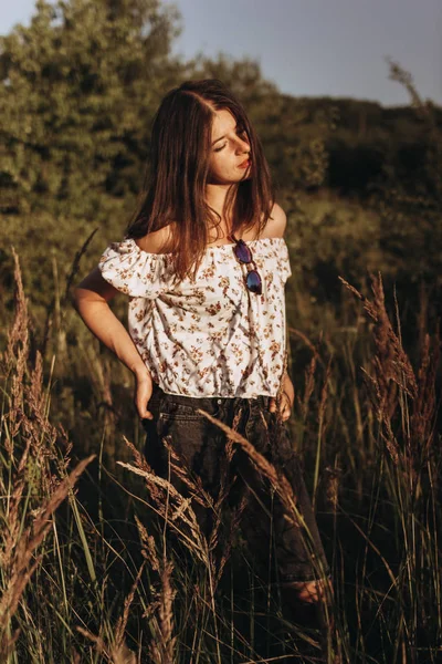
<instances>
[{"instance_id":1,"label":"woman's bent bare arm on the left, hand at her hip","mask_svg":"<svg viewBox=\"0 0 442 664\"><path fill-rule=\"evenodd\" d=\"M91 332L99 339L135 375L135 403L141 418L151 419L147 404L151 396L151 376L126 328L112 312L108 301L118 291L95 268L74 291L75 309Z\"/></svg>"}]
</instances>

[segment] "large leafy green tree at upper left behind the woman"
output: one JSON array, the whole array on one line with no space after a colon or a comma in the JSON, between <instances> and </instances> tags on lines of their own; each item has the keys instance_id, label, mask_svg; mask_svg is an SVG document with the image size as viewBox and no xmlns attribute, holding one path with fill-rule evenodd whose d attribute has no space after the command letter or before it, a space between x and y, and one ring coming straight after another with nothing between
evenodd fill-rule
<instances>
[{"instance_id":1,"label":"large leafy green tree at upper left behind the woman","mask_svg":"<svg viewBox=\"0 0 442 664\"><path fill-rule=\"evenodd\" d=\"M4 214L96 218L137 189L146 121L180 73L177 20L158 0L39 0L1 38Z\"/></svg>"}]
</instances>

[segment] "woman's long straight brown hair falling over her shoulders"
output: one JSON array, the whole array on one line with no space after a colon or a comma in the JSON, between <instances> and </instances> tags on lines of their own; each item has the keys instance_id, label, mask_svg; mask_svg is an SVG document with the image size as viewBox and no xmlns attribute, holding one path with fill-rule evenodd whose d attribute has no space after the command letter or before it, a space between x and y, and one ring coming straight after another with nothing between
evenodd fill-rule
<instances>
[{"instance_id":1,"label":"woman's long straight brown hair falling over her shoulders","mask_svg":"<svg viewBox=\"0 0 442 664\"><path fill-rule=\"evenodd\" d=\"M218 79L187 81L164 97L154 118L150 160L128 236L140 238L175 221L168 249L178 280L194 276L221 217L206 201L211 129L215 111L228 110L244 129L253 173L228 193L232 231L264 228L274 204L267 162L248 115Z\"/></svg>"}]
</instances>

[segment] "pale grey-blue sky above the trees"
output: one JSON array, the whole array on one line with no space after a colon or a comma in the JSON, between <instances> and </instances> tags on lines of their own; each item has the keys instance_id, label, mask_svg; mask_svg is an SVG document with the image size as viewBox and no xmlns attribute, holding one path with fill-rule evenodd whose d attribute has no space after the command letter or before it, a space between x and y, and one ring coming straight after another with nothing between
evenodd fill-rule
<instances>
[{"instance_id":1,"label":"pale grey-blue sky above the trees","mask_svg":"<svg viewBox=\"0 0 442 664\"><path fill-rule=\"evenodd\" d=\"M170 0L164 0L170 4ZM295 96L352 97L408 105L389 79L391 58L418 93L442 105L442 0L175 0L182 33L173 52L256 60ZM29 23L34 0L3 0L0 33Z\"/></svg>"}]
</instances>

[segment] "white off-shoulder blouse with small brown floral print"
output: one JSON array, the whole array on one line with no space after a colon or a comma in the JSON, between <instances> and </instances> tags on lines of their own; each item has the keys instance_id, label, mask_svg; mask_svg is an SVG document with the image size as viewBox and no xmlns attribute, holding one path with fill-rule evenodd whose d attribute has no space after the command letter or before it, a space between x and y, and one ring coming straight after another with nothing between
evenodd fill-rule
<instances>
[{"instance_id":1,"label":"white off-shoulder blouse with small brown floral print","mask_svg":"<svg viewBox=\"0 0 442 664\"><path fill-rule=\"evenodd\" d=\"M170 253L148 253L131 238L103 253L103 278L130 297L130 336L165 392L276 395L284 370L288 250L283 238L246 245L262 279L261 295L246 288L246 267L234 245L208 247L196 279L177 286Z\"/></svg>"}]
</instances>

